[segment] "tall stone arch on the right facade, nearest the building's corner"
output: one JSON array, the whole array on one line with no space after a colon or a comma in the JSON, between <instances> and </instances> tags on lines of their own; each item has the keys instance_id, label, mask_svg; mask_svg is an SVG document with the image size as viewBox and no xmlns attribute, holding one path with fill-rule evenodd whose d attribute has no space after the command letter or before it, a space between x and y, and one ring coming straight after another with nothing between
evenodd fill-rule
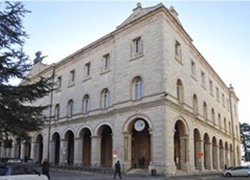
<instances>
[{"instance_id":1,"label":"tall stone arch on the right facade, nearest the building's corner","mask_svg":"<svg viewBox=\"0 0 250 180\"><path fill-rule=\"evenodd\" d=\"M188 162L188 133L185 121L178 119L174 124L174 162L177 169L185 169Z\"/></svg>"}]
</instances>

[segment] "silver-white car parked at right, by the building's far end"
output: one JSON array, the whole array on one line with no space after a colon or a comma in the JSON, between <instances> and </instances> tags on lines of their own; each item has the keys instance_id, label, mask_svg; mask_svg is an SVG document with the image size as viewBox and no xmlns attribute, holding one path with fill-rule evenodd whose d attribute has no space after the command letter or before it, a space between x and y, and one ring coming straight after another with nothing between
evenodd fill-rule
<instances>
[{"instance_id":1,"label":"silver-white car parked at right, by the building's far end","mask_svg":"<svg viewBox=\"0 0 250 180\"><path fill-rule=\"evenodd\" d=\"M225 170L224 176L250 176L249 166L235 166Z\"/></svg>"}]
</instances>

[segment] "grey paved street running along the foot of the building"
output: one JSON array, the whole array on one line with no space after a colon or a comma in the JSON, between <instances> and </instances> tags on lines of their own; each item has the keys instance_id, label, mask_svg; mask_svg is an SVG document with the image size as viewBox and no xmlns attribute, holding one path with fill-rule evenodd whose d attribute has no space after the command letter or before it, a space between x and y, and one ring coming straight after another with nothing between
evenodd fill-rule
<instances>
[{"instance_id":1,"label":"grey paved street running along the foot of the building","mask_svg":"<svg viewBox=\"0 0 250 180\"><path fill-rule=\"evenodd\" d=\"M51 180L110 180L113 174L100 174L85 171L69 171L51 169ZM188 177L162 177L162 176L139 176L139 175L123 175L125 180L243 180L248 177L222 177L221 175L197 175ZM116 179L119 179L118 177Z\"/></svg>"}]
</instances>

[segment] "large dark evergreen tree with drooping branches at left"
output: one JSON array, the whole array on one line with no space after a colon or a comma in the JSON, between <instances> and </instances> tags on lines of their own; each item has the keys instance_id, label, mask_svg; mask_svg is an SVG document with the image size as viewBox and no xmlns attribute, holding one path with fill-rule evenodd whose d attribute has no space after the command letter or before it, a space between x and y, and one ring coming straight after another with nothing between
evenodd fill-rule
<instances>
[{"instance_id":1,"label":"large dark evergreen tree with drooping branches at left","mask_svg":"<svg viewBox=\"0 0 250 180\"><path fill-rule=\"evenodd\" d=\"M28 35L22 19L30 11L22 2L0 2L0 8L0 139L7 146L9 135L26 139L30 132L42 128L46 120L43 111L49 106L32 103L48 95L52 84L49 78L31 83L26 77L32 64L23 51ZM13 85L13 79L25 83Z\"/></svg>"}]
</instances>

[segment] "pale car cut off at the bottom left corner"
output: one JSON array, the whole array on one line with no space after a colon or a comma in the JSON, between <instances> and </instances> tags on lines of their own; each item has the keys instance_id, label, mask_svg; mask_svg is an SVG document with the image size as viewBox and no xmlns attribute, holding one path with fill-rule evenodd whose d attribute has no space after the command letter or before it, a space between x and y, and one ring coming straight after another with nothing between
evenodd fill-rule
<instances>
[{"instance_id":1,"label":"pale car cut off at the bottom left corner","mask_svg":"<svg viewBox=\"0 0 250 180\"><path fill-rule=\"evenodd\" d=\"M28 164L1 164L0 180L48 180L48 177Z\"/></svg>"}]
</instances>

